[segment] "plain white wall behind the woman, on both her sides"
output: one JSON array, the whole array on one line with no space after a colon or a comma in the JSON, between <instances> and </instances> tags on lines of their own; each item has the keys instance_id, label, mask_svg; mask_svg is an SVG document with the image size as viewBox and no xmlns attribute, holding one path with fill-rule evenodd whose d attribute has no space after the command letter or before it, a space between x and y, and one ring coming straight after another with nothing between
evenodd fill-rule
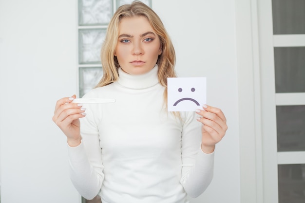
<instances>
[{"instance_id":1,"label":"plain white wall behind the woman, on both her sides","mask_svg":"<svg viewBox=\"0 0 305 203\"><path fill-rule=\"evenodd\" d=\"M187 3L185 3L187 2ZM214 179L192 203L240 203L234 0L152 0L172 37L179 76L206 76L228 132ZM76 93L76 0L0 0L2 203L78 203L55 102Z\"/></svg>"}]
</instances>

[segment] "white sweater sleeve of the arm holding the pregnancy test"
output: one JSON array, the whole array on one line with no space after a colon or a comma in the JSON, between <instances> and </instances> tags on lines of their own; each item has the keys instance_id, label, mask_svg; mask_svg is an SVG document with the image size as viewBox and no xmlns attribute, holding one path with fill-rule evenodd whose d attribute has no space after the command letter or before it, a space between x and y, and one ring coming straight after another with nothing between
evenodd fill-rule
<instances>
[{"instance_id":1,"label":"white sweater sleeve of the arm holding the pregnancy test","mask_svg":"<svg viewBox=\"0 0 305 203\"><path fill-rule=\"evenodd\" d=\"M91 109L93 107L87 108L86 117L80 120L81 144L77 147L68 146L71 181L87 200L98 194L104 180L98 128Z\"/></svg>"}]
</instances>

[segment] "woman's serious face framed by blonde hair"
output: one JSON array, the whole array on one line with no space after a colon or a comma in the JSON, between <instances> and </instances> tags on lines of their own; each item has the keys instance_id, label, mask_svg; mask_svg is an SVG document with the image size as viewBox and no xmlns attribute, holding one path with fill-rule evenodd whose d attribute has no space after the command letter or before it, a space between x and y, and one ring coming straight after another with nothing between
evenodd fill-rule
<instances>
[{"instance_id":1,"label":"woman's serious face framed by blonde hair","mask_svg":"<svg viewBox=\"0 0 305 203\"><path fill-rule=\"evenodd\" d=\"M114 55L128 74L145 74L152 70L162 53L160 39L147 18L122 18Z\"/></svg>"}]
</instances>

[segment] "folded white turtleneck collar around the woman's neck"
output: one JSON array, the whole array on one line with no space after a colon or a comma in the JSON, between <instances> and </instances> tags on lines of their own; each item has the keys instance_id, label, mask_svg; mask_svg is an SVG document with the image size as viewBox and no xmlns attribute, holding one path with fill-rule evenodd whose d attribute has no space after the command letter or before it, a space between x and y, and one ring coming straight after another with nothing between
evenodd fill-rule
<instances>
[{"instance_id":1,"label":"folded white turtleneck collar around the woman's neck","mask_svg":"<svg viewBox=\"0 0 305 203\"><path fill-rule=\"evenodd\" d=\"M118 74L119 78L117 83L123 87L130 89L146 89L159 83L157 64L146 74L128 74L125 73L121 68L118 69Z\"/></svg>"}]
</instances>

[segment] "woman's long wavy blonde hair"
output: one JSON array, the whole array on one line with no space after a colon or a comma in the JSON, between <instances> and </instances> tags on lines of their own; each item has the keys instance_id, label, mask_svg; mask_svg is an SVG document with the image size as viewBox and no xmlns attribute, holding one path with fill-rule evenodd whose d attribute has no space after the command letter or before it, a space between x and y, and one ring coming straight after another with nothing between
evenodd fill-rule
<instances>
[{"instance_id":1,"label":"woman's long wavy blonde hair","mask_svg":"<svg viewBox=\"0 0 305 203\"><path fill-rule=\"evenodd\" d=\"M122 18L131 18L134 16L143 16L147 18L152 29L160 39L162 53L157 60L157 65L159 66L158 80L159 83L165 87L164 99L166 101L167 78L176 77L174 71L176 62L175 50L158 15L149 6L137 0L133 1L131 4L120 6L108 25L106 37L101 49L103 77L96 87L109 85L118 79L119 64L114 56L114 52L119 35L119 23Z\"/></svg>"}]
</instances>

